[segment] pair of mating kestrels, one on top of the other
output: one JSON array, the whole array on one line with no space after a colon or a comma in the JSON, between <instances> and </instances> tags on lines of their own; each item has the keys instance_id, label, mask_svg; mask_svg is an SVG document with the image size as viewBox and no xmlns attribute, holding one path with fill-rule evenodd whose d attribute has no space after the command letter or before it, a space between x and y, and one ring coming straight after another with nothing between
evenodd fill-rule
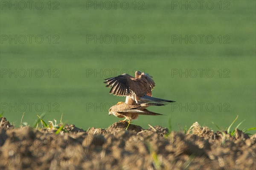
<instances>
[{"instance_id":1,"label":"pair of mating kestrels, one on top of the other","mask_svg":"<svg viewBox=\"0 0 256 170\"><path fill-rule=\"evenodd\" d=\"M120 122L130 121L137 119L141 115L162 115L148 111L148 106L163 106L172 100L159 99L152 97L152 90L155 83L151 76L146 73L136 71L135 77L129 74L122 74L117 77L105 79L106 87L111 87L110 94L116 96L126 96L125 102L118 102L113 105L108 111L109 115L113 114L116 117L125 119Z\"/></svg>"}]
</instances>

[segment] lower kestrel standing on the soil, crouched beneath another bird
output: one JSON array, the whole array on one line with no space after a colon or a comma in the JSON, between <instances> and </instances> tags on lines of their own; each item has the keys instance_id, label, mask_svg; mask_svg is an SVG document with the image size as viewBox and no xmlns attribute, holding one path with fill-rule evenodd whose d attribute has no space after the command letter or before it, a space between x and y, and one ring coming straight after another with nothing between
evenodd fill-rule
<instances>
[{"instance_id":1,"label":"lower kestrel standing on the soil, crouched beneath another bird","mask_svg":"<svg viewBox=\"0 0 256 170\"><path fill-rule=\"evenodd\" d=\"M128 105L125 102L118 102L116 105L113 105L108 111L109 115L113 114L116 117L122 118L125 117L124 120L120 122L125 122L125 120L128 120L130 123L131 120L137 119L139 114L141 115L162 115L160 113L154 113L151 111L148 111L147 108L148 106L162 106L164 104L161 103L141 103L137 105Z\"/></svg>"}]
</instances>

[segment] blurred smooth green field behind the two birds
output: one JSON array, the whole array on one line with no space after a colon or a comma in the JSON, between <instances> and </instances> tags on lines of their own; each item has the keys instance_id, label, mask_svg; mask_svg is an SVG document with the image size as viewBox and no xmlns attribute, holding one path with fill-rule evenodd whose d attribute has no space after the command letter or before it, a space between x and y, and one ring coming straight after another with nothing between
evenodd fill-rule
<instances>
[{"instance_id":1,"label":"blurred smooth green field behind the two birds","mask_svg":"<svg viewBox=\"0 0 256 170\"><path fill-rule=\"evenodd\" d=\"M46 112L47 121L59 122L63 113L62 122L106 128L121 120L108 116L108 108L125 98L108 94L104 79L135 70L154 78L153 96L177 101L149 108L167 116L139 116L136 125L168 127L171 118L173 130L194 122L217 130L212 122L224 129L239 115L241 129L256 126L255 1L195 7L128 0L116 9L112 1L47 0L42 8L33 1L31 9L10 2L1 0L0 102L16 126L23 112L30 125Z\"/></svg>"}]
</instances>

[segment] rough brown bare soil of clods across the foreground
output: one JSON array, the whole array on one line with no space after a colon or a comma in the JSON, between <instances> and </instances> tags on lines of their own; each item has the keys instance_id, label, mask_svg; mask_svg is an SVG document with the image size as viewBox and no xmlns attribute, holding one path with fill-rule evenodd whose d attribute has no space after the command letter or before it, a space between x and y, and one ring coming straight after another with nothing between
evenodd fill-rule
<instances>
[{"instance_id":1,"label":"rough brown bare soil of clods across the foreground","mask_svg":"<svg viewBox=\"0 0 256 170\"><path fill-rule=\"evenodd\" d=\"M187 134L116 122L107 129L14 128L0 118L1 170L204 169L255 170L256 134L214 132L195 122Z\"/></svg>"}]
</instances>

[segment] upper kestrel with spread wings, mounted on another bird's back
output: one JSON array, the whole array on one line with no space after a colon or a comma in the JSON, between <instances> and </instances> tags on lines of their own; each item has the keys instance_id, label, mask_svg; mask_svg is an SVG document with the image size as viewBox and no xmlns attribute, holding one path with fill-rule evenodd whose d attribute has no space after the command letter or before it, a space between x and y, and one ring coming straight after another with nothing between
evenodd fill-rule
<instances>
[{"instance_id":1,"label":"upper kestrel with spread wings, mounted on another bird's back","mask_svg":"<svg viewBox=\"0 0 256 170\"><path fill-rule=\"evenodd\" d=\"M134 105L140 102L175 102L172 100L159 99L152 97L151 91L155 87L155 83L151 76L140 71L135 72L135 77L129 74L122 74L117 77L111 77L106 80L106 87L112 87L110 94L116 96L126 96L125 103ZM134 102L135 101L135 102Z\"/></svg>"}]
</instances>

